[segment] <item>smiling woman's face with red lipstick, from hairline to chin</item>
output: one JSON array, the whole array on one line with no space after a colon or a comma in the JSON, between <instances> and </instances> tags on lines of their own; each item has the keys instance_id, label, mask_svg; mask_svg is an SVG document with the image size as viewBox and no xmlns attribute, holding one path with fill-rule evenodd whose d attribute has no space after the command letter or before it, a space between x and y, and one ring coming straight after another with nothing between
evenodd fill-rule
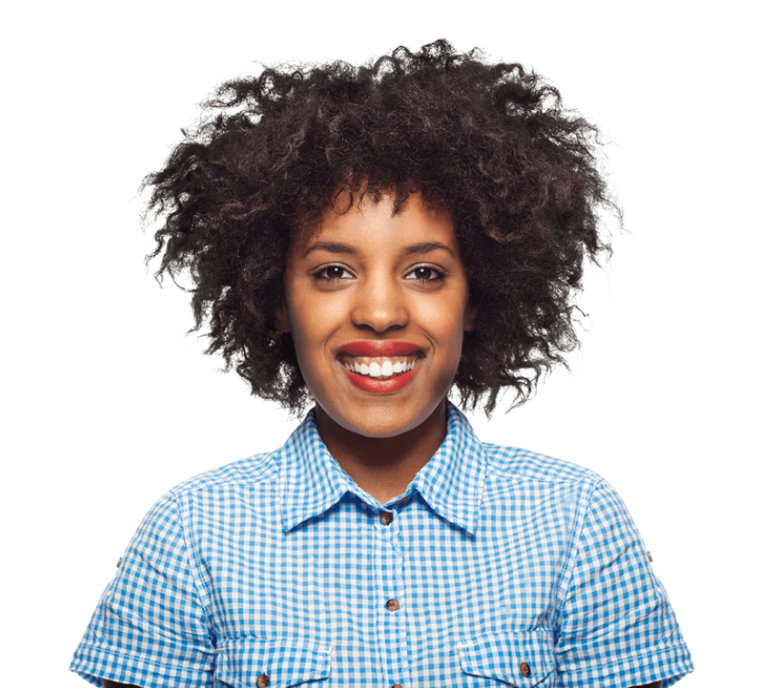
<instances>
[{"instance_id":1,"label":"smiling woman's face with red lipstick, from hairline to chin","mask_svg":"<svg viewBox=\"0 0 771 688\"><path fill-rule=\"evenodd\" d=\"M347 201L338 196L338 211ZM436 418L440 405L444 411L476 313L449 214L425 211L419 193L393 218L390 195L366 199L362 211L357 201L345 215L327 211L304 245L293 238L286 300L276 315L292 335L317 413L365 437L395 437ZM418 246L429 243L446 249ZM342 350L353 342L403 342L415 350L354 356ZM414 369L397 372L397 364L413 362ZM366 364L366 375L346 363ZM372 363L392 381L374 381Z\"/></svg>"}]
</instances>

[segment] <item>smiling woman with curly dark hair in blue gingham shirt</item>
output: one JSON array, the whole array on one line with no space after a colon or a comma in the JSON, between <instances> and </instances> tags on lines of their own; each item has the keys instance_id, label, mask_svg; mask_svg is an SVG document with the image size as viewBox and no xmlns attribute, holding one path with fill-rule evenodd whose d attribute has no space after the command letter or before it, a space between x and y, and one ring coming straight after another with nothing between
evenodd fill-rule
<instances>
[{"instance_id":1,"label":"smiling woman with curly dark hair in blue gingham shirt","mask_svg":"<svg viewBox=\"0 0 771 688\"><path fill-rule=\"evenodd\" d=\"M146 268L162 253L160 286L190 282L187 334L205 327L205 354L301 422L151 506L68 667L88 683L666 688L694 671L610 483L465 418L573 373L586 265L611 270L598 209L625 231L606 133L488 56L440 40L226 80L204 104L239 111L145 177Z\"/></svg>"}]
</instances>

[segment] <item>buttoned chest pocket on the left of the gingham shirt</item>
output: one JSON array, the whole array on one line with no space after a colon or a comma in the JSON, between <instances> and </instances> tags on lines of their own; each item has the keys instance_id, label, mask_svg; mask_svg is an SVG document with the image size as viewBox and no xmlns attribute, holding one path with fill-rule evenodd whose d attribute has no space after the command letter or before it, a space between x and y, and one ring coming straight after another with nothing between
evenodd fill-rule
<instances>
[{"instance_id":1,"label":"buttoned chest pocket on the left of the gingham shirt","mask_svg":"<svg viewBox=\"0 0 771 688\"><path fill-rule=\"evenodd\" d=\"M229 688L289 688L320 681L329 678L329 653L327 645L243 638L220 648L217 679Z\"/></svg>"}]
</instances>

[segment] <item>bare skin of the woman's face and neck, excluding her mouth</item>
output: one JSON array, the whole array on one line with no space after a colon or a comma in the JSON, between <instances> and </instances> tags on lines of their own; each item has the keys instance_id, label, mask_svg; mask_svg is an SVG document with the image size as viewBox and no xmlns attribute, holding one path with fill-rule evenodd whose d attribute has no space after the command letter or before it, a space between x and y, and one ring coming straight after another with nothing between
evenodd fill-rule
<instances>
[{"instance_id":1,"label":"bare skin of the woman's face and neck, excluding her mouth","mask_svg":"<svg viewBox=\"0 0 771 688\"><path fill-rule=\"evenodd\" d=\"M338 212L347 201L345 193L337 197ZM476 310L449 212L426 211L420 193L396 217L391 195L379 203L365 199L361 211L357 201L345 214L327 211L302 243L293 236L276 317L279 329L292 335L327 449L360 487L385 502L404 492L444 440L445 399ZM306 252L318 242L346 244L356 253ZM426 242L443 243L452 253L406 252ZM437 279L440 273L444 279ZM351 383L337 359L345 344L367 340L415 343L425 358L405 387L367 392Z\"/></svg>"}]
</instances>

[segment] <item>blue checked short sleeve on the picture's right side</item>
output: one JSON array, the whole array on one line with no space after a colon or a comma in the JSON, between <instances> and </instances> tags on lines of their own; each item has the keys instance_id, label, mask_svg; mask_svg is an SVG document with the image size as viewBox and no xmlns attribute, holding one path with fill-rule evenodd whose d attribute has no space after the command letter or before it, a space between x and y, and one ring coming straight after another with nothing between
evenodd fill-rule
<instances>
[{"instance_id":1,"label":"blue checked short sleeve on the picture's right side","mask_svg":"<svg viewBox=\"0 0 771 688\"><path fill-rule=\"evenodd\" d=\"M560 685L622 688L660 680L669 688L694 673L645 541L604 478L591 491L577 528L555 646Z\"/></svg>"}]
</instances>

